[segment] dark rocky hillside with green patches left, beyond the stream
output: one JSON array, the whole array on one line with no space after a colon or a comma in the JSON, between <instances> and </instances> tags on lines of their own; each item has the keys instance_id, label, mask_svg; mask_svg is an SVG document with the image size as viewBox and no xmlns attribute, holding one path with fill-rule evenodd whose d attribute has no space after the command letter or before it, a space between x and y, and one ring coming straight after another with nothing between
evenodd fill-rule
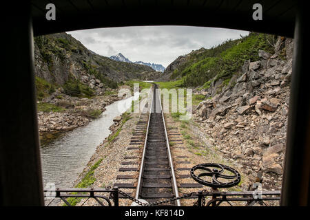
<instances>
[{"instance_id":1,"label":"dark rocky hillside with green patches left, beyond the stream","mask_svg":"<svg viewBox=\"0 0 310 220\"><path fill-rule=\"evenodd\" d=\"M66 33L35 37L34 58L39 100L59 87L70 96L90 97L126 80L158 76L151 67L95 54Z\"/></svg>"}]
</instances>

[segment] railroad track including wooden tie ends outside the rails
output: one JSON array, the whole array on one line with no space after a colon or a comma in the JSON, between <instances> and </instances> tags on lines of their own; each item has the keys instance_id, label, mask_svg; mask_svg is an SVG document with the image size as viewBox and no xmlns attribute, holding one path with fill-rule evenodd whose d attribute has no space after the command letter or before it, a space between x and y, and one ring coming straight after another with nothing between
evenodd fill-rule
<instances>
[{"instance_id":1,"label":"railroad track including wooden tie ends outside the rails","mask_svg":"<svg viewBox=\"0 0 310 220\"><path fill-rule=\"evenodd\" d=\"M154 84L152 104L149 113L141 114L136 128L134 129L130 146L127 150L140 152L139 162L132 161L138 159L136 156L125 157L131 161L122 162L119 171L136 172L136 175L118 175L116 179L137 179L135 184L116 183L118 188L131 188L135 192L129 193L136 199L145 199L149 203L161 201L169 198L179 197L178 188L200 188L200 184L177 184L177 178L189 178L189 175L176 175L174 173L174 162L169 146L163 108L159 91ZM176 135L175 131L169 131L169 135ZM179 141L179 140L177 140ZM143 146L143 148L142 148ZM186 158L181 156L178 158ZM180 164L186 162L178 161ZM138 167L132 166L138 165ZM176 170L189 170L189 168L177 168ZM122 198L122 196L120 197ZM165 203L170 206L180 206L180 201Z\"/></svg>"}]
</instances>

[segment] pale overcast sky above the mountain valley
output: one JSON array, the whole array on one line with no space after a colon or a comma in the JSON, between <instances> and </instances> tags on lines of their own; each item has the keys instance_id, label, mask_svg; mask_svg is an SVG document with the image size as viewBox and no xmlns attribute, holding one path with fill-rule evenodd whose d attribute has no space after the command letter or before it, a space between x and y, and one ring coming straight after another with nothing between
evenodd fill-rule
<instances>
[{"instance_id":1,"label":"pale overcast sky above the mountain valley","mask_svg":"<svg viewBox=\"0 0 310 220\"><path fill-rule=\"evenodd\" d=\"M102 56L122 53L130 61L159 63L167 67L178 56L201 47L210 48L249 32L223 28L143 26L100 28L67 32Z\"/></svg>"}]
</instances>

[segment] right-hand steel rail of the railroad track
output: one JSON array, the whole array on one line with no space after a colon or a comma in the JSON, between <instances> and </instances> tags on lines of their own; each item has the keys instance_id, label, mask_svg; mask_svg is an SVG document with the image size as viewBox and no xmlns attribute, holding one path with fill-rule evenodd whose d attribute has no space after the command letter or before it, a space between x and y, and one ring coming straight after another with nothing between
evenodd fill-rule
<instances>
[{"instance_id":1,"label":"right-hand steel rail of the railroad track","mask_svg":"<svg viewBox=\"0 0 310 220\"><path fill-rule=\"evenodd\" d=\"M155 87L154 87L155 89ZM161 92L158 89L158 98L159 98L159 103L161 105ZM163 117L163 124L164 124L164 128L165 128L165 137L166 137L166 145L167 145L167 152L168 152L168 159L169 159L169 165L171 168L171 175L172 175L172 189L174 190L174 195L176 197L179 197L178 195L178 186L176 185L176 175L174 173L174 164L172 162L172 156L171 156L171 151L170 151L170 144L169 144L169 138L168 138L168 134L167 134L167 128L166 128L166 123L165 123L165 117L164 117L164 113L163 113L163 107L161 105L161 115ZM180 206L180 200L176 200L176 206Z\"/></svg>"}]
</instances>

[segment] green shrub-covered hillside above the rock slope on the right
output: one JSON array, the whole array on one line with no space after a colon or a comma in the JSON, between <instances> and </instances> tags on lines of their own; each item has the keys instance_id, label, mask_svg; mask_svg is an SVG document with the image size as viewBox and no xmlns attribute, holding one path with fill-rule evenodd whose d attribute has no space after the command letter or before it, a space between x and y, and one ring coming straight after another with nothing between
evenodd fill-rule
<instances>
[{"instance_id":1,"label":"green shrub-covered hillside above the rock slope on the right","mask_svg":"<svg viewBox=\"0 0 310 220\"><path fill-rule=\"evenodd\" d=\"M182 79L184 87L196 87L205 83L207 87L212 78L225 80L234 74L240 74L244 61L258 61L259 50L271 53L271 44L274 42L275 36L250 33L241 39L225 41L210 49L201 48L179 56L167 67L163 79Z\"/></svg>"}]
</instances>

